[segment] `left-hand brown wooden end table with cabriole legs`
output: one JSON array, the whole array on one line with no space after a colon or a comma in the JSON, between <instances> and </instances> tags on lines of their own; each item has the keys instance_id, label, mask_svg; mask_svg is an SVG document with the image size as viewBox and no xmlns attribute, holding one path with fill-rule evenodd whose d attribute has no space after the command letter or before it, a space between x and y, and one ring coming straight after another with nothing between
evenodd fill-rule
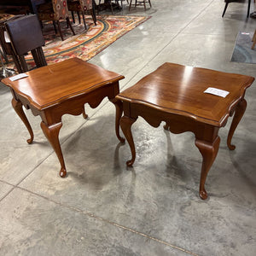
<instances>
[{"instance_id":1,"label":"left-hand brown wooden end table with cabriole legs","mask_svg":"<svg viewBox=\"0 0 256 256\"><path fill-rule=\"evenodd\" d=\"M116 107L116 135L120 142L125 142L125 139L119 136L122 104L115 99L115 96L119 94L119 80L124 79L124 76L79 58L40 67L26 74L28 75L26 78L15 81L8 78L3 79L2 82L8 85L12 91L13 108L30 133L31 138L27 140L27 143L32 143L33 132L22 106L26 109L30 108L33 115L40 115L44 135L48 138L60 161L61 177L67 175L59 142L63 114L79 115L83 113L86 118L84 104L89 103L91 108L96 108L103 98L108 96L108 99Z\"/></svg>"}]
</instances>

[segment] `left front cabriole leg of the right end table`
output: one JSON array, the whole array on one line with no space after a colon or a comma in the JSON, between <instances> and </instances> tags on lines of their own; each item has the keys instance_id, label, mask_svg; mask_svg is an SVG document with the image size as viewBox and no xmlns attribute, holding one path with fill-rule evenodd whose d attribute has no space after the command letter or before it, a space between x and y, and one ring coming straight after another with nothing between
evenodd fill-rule
<instances>
[{"instance_id":1,"label":"left front cabriole leg of the right end table","mask_svg":"<svg viewBox=\"0 0 256 256\"><path fill-rule=\"evenodd\" d=\"M122 128L122 131L125 135L125 138L127 142L130 145L131 148L131 160L128 160L126 162L127 166L132 166L136 157L136 152L135 152L135 147L134 147L134 142L133 142L133 137L131 134L131 125L136 121L136 119L131 119L127 116L123 116L120 120L120 125Z\"/></svg>"}]
</instances>

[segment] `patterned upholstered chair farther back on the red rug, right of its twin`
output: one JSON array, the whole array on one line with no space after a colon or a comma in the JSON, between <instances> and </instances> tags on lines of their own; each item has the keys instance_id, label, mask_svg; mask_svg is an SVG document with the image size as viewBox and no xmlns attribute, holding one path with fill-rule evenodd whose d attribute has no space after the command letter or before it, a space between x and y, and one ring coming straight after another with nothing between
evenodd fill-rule
<instances>
[{"instance_id":1,"label":"patterned upholstered chair farther back on the red rug, right of its twin","mask_svg":"<svg viewBox=\"0 0 256 256\"><path fill-rule=\"evenodd\" d=\"M79 23L81 23L80 13L84 21L84 28L87 29L84 13L90 11L90 15L96 25L96 12L95 12L95 1L93 0L67 0L67 9L71 11L73 23L75 23L74 12L77 12L79 16Z\"/></svg>"}]
</instances>

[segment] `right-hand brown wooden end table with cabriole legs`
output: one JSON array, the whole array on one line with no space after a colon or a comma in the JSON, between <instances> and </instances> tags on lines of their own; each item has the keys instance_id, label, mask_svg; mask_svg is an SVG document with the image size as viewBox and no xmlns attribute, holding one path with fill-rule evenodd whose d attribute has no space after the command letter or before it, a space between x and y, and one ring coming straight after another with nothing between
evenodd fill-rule
<instances>
[{"instance_id":1,"label":"right-hand brown wooden end table with cabriole legs","mask_svg":"<svg viewBox=\"0 0 256 256\"><path fill-rule=\"evenodd\" d=\"M227 140L230 150L235 149L231 138L246 110L244 95L253 80L253 77L235 73L165 63L121 92L116 96L123 102L124 108L120 125L132 156L126 165L132 166L136 157L131 125L138 116L154 127L164 121L165 129L173 133L192 131L195 145L202 155L199 193L201 199L207 199L205 182L218 154L218 130L235 112ZM229 91L229 94L221 97L204 93L209 87Z\"/></svg>"}]
</instances>

